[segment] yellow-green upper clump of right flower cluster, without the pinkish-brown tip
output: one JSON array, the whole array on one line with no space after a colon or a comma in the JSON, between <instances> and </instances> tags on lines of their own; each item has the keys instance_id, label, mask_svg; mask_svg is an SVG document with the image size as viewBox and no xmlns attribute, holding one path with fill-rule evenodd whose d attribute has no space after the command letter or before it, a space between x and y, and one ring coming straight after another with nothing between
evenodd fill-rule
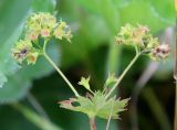
<instances>
[{"instance_id":1,"label":"yellow-green upper clump of right flower cluster, without the pinkish-brown tip","mask_svg":"<svg viewBox=\"0 0 177 130\"><path fill-rule=\"evenodd\" d=\"M142 51L154 50L159 45L158 39L153 37L149 33L149 29L145 25L133 26L131 24L126 24L121 28L115 41L117 44L139 46Z\"/></svg>"}]
</instances>

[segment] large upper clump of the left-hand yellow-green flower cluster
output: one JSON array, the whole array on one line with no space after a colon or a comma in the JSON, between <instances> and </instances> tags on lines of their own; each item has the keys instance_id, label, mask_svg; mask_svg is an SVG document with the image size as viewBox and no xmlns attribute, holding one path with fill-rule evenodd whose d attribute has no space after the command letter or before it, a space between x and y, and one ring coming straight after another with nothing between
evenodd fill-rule
<instances>
[{"instance_id":1,"label":"large upper clump of the left-hand yellow-green flower cluster","mask_svg":"<svg viewBox=\"0 0 177 130\"><path fill-rule=\"evenodd\" d=\"M64 21L58 22L55 17L50 13L34 13L32 14L25 24L27 39L31 41L38 40L39 36L50 37L55 36L59 40L65 37L71 42L71 29Z\"/></svg>"}]
</instances>

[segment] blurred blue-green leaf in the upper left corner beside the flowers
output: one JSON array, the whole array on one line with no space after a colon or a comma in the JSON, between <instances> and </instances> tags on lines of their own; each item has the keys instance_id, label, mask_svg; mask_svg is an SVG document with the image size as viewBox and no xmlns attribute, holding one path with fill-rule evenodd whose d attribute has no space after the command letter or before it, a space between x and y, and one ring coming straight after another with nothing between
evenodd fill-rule
<instances>
[{"instance_id":1,"label":"blurred blue-green leaf in the upper left corner beside the flowers","mask_svg":"<svg viewBox=\"0 0 177 130\"><path fill-rule=\"evenodd\" d=\"M23 4L19 7L19 4ZM2 80L13 74L19 66L11 59L10 51L22 32L21 22L23 21L27 12L29 11L30 0L21 1L2 0L0 8L0 74L3 77ZM15 19L14 17L15 15ZM8 28L4 28L8 26ZM8 79L6 79L8 80ZM2 85L2 84L1 84Z\"/></svg>"}]
</instances>

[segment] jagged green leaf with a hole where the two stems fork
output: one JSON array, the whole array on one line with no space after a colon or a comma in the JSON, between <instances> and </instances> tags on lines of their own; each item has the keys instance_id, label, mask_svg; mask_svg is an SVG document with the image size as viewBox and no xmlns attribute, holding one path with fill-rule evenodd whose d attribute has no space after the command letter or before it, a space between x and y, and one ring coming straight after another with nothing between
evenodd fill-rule
<instances>
[{"instance_id":1,"label":"jagged green leaf with a hole where the two stems fork","mask_svg":"<svg viewBox=\"0 0 177 130\"><path fill-rule=\"evenodd\" d=\"M118 119L119 112L126 110L129 98L115 99L115 97L106 99L106 96L101 91L94 94L93 97L77 97L70 100L60 101L60 107L70 109L73 111L80 111L86 113L88 117L100 117L103 119L110 118L110 111L112 111L112 118ZM75 106L74 106L75 105Z\"/></svg>"}]
</instances>

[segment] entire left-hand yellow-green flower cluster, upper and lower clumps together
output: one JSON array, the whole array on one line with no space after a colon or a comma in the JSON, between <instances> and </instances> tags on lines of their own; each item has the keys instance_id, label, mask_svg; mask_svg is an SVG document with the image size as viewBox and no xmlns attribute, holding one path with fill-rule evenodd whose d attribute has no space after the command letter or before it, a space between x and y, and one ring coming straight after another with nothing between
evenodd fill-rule
<instances>
[{"instance_id":1,"label":"entire left-hand yellow-green flower cluster, upper and lower clumps together","mask_svg":"<svg viewBox=\"0 0 177 130\"><path fill-rule=\"evenodd\" d=\"M12 48L12 56L19 63L27 59L28 64L35 64L38 56L41 54L39 37L44 41L55 37L58 40L66 39L71 42L71 29L64 21L56 21L55 17L50 13L33 13L25 23L25 37L17 42ZM34 45L38 44L38 45Z\"/></svg>"}]
</instances>

